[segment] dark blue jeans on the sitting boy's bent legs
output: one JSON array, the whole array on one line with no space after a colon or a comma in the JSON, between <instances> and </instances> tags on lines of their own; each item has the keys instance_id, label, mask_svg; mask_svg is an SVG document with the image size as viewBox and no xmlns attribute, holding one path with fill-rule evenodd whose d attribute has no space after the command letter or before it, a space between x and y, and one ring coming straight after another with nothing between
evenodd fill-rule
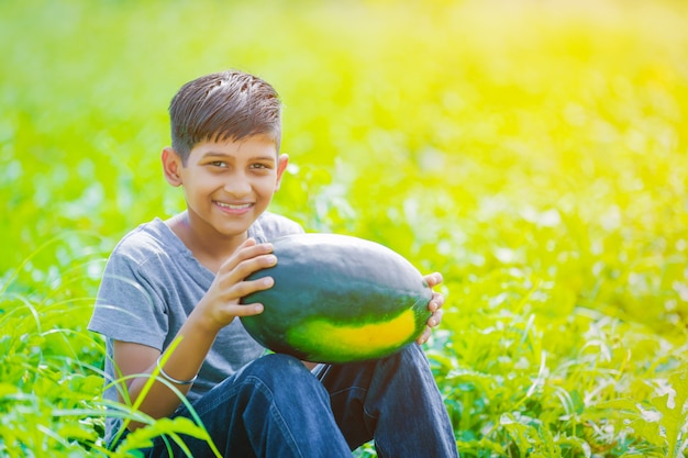
<instances>
[{"instance_id":1,"label":"dark blue jeans on the sitting boy's bent legs","mask_svg":"<svg viewBox=\"0 0 688 458\"><path fill-rule=\"evenodd\" d=\"M286 355L246 365L193 403L223 457L349 457L375 439L380 458L458 457L454 433L422 349L309 371ZM185 409L175 415L188 416ZM208 445L185 437L195 458ZM173 457L184 454L171 445ZM162 439L149 458L168 457Z\"/></svg>"}]
</instances>

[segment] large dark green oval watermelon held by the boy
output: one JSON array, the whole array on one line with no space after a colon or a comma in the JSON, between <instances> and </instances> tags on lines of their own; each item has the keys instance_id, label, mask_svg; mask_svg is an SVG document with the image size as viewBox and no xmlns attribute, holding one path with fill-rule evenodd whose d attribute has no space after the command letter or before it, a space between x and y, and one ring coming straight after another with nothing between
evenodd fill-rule
<instances>
[{"instance_id":1,"label":"large dark green oval watermelon held by the boy","mask_svg":"<svg viewBox=\"0 0 688 458\"><path fill-rule=\"evenodd\" d=\"M339 234L295 234L273 242L273 288L242 299L263 313L242 317L263 346L312 362L380 358L420 336L432 289L413 265L384 245Z\"/></svg>"}]
</instances>

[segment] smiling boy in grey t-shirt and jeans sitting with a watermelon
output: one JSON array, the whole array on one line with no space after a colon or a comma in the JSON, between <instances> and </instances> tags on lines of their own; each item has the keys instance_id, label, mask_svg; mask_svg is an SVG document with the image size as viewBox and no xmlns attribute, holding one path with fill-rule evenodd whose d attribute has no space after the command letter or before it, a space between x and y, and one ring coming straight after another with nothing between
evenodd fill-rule
<instances>
[{"instance_id":1,"label":"smiling boy in grey t-shirt and jeans sitting with a watermelon","mask_svg":"<svg viewBox=\"0 0 688 458\"><path fill-rule=\"evenodd\" d=\"M279 154L280 101L274 88L241 71L208 75L185 85L169 113L173 144L163 149L163 169L171 186L182 187L187 210L141 225L108 260L89 325L107 337L108 376L115 380L159 368L192 403L225 457L351 457L373 438L380 457L457 457L419 345L380 360L314 366L286 355L263 356L236 320L263 311L262 304L238 301L271 287L270 278L244 281L278 261L269 241L302 232L266 212L288 163ZM434 287L442 277L426 280ZM443 302L433 294L433 314L419 344L440 323ZM167 355L173 342L178 345ZM125 380L133 402L147 378ZM122 390L109 389L106 396L122 401ZM141 411L189 416L160 381ZM121 421L108 418L107 426L111 440ZM212 456L207 443L185 440L193 457ZM167 456L163 439L146 454ZM173 456L180 455L173 445Z\"/></svg>"}]
</instances>

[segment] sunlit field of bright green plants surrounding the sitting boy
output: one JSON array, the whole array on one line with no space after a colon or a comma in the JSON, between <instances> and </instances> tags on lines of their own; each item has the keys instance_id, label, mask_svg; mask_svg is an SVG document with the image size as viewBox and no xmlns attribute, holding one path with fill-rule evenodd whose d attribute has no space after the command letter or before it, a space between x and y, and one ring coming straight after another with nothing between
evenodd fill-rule
<instances>
[{"instance_id":1,"label":"sunlit field of bright green plants surrounding the sitting boy","mask_svg":"<svg viewBox=\"0 0 688 458\"><path fill-rule=\"evenodd\" d=\"M0 53L0 457L202 434L106 450L86 324L116 241L184 208L169 99L226 68L285 103L273 211L443 272L463 457L687 456L685 2L4 1Z\"/></svg>"}]
</instances>

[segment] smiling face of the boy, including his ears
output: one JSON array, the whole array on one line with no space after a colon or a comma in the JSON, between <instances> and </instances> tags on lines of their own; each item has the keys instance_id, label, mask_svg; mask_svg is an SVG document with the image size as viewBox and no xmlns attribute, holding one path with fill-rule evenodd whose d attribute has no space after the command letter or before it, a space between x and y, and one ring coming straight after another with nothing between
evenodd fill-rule
<instances>
[{"instance_id":1,"label":"smiling face of the boy, including his ears","mask_svg":"<svg viewBox=\"0 0 688 458\"><path fill-rule=\"evenodd\" d=\"M245 234L279 189L287 161L266 135L196 145L186 166L178 164L191 224L206 235Z\"/></svg>"}]
</instances>

